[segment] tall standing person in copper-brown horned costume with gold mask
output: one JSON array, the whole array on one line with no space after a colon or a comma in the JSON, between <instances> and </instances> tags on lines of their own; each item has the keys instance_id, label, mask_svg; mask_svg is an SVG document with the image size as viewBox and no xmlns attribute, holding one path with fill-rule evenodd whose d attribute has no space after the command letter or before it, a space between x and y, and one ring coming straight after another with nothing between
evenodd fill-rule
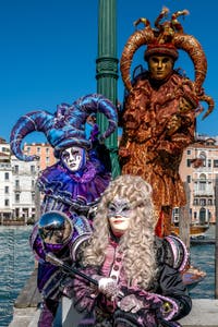
<instances>
[{"instance_id":1,"label":"tall standing person in copper-brown horned costume with gold mask","mask_svg":"<svg viewBox=\"0 0 218 327\"><path fill-rule=\"evenodd\" d=\"M206 118L214 108L214 100L206 96L202 85L207 72L207 61L199 43L183 33L178 11L170 21L161 20L168 14L164 8L155 22L140 19L136 31L124 46L120 62L125 86L120 125L123 135L119 155L122 173L141 175L153 186L157 215L160 216L159 234L170 234L174 207L186 203L184 186L179 174L183 150L195 137L196 116L203 110L201 101L208 104ZM135 51L147 46L144 58L148 70L140 65L131 81L131 63ZM174 70L178 50L184 50L192 59L195 80L192 82Z\"/></svg>"}]
</instances>

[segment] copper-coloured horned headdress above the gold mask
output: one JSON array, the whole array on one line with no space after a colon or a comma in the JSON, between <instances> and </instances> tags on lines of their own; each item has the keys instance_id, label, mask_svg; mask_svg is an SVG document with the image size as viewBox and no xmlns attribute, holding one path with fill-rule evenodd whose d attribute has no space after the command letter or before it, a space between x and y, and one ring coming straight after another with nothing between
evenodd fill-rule
<instances>
[{"instance_id":1,"label":"copper-coloured horned headdress above the gold mask","mask_svg":"<svg viewBox=\"0 0 218 327\"><path fill-rule=\"evenodd\" d=\"M181 15L189 14L189 11L178 11L171 15L170 21L160 23L168 13L169 10L164 8L155 21L156 28L150 27L150 23L147 19L138 19L134 23L135 26L143 23L145 27L133 33L124 46L120 61L123 83L128 90L132 89L130 70L133 56L141 46L147 45L145 60L147 60L149 56L158 53L170 56L177 60L178 49L182 49L189 55L194 64L195 78L192 84L197 100L208 104L208 109L203 117L203 119L205 119L213 111L215 106L213 98L205 95L204 89L202 88L207 73L207 60L205 52L194 36L187 35L183 32L182 25L177 20Z\"/></svg>"}]
</instances>

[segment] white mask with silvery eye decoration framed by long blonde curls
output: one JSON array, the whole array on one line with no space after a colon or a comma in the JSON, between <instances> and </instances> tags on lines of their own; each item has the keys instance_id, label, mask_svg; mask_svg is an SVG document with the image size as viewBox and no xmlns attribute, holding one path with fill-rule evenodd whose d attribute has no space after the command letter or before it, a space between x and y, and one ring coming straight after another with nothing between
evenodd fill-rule
<instances>
[{"instance_id":1,"label":"white mask with silvery eye decoration framed by long blonde curls","mask_svg":"<svg viewBox=\"0 0 218 327\"><path fill-rule=\"evenodd\" d=\"M133 210L126 198L116 197L108 206L108 219L114 235L122 235L130 227Z\"/></svg>"}]
</instances>

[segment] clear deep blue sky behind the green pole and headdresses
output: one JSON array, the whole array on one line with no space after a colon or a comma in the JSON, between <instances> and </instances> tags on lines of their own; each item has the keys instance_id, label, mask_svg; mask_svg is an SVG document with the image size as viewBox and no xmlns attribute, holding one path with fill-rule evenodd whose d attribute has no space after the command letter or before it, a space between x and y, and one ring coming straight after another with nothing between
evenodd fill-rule
<instances>
[{"instance_id":1,"label":"clear deep blue sky behind the green pole and headdresses","mask_svg":"<svg viewBox=\"0 0 218 327\"><path fill-rule=\"evenodd\" d=\"M134 32L133 22L143 16L154 26L162 5L170 13L190 11L190 15L179 20L184 32L194 35L205 50L208 71L204 88L217 102L217 1L117 0L118 59ZM58 104L71 104L96 92L97 36L98 0L0 0L1 137L9 141L13 124L26 112L53 112ZM143 55L138 60L143 62ZM186 55L181 55L178 66L194 78L193 64ZM121 78L118 97L122 101ZM215 107L206 120L197 118L197 132L218 135L217 122ZM33 134L25 141L43 141L40 133Z\"/></svg>"}]
</instances>

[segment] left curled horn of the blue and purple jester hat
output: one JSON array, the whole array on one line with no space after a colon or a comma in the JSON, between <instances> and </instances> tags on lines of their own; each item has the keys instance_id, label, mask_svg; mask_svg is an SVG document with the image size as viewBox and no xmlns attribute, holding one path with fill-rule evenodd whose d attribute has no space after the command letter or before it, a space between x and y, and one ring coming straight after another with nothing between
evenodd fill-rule
<instances>
[{"instance_id":1,"label":"left curled horn of the blue and purple jester hat","mask_svg":"<svg viewBox=\"0 0 218 327\"><path fill-rule=\"evenodd\" d=\"M13 126L10 136L10 146L14 156L24 161L37 160L38 156L26 156L23 153L22 141L27 134L35 131L46 134L52 120L53 116L47 111L33 111L22 116Z\"/></svg>"}]
</instances>

